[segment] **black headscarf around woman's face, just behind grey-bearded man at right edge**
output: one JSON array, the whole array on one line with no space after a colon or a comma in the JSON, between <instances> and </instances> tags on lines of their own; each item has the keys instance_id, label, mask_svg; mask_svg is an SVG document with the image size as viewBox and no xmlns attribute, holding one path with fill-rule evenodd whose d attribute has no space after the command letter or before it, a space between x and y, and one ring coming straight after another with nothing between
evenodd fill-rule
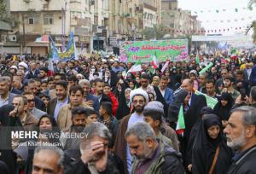
<instances>
[{"instance_id":1,"label":"black headscarf around woman's face, just behind grey-bearded man at right edge","mask_svg":"<svg viewBox=\"0 0 256 174\"><path fill-rule=\"evenodd\" d=\"M226 106L222 106L221 101L227 101L228 104ZM218 99L218 103L214 107L214 113L221 119L221 120L228 120L230 119L230 110L233 106L233 98L230 93L224 92Z\"/></svg>"}]
</instances>

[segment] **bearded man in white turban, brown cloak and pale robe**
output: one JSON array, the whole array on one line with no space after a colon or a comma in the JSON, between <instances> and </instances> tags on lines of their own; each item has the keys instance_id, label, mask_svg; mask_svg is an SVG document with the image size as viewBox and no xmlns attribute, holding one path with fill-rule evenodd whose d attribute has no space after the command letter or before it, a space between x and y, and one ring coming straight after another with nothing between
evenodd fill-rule
<instances>
[{"instance_id":1,"label":"bearded man in white turban, brown cloak and pale robe","mask_svg":"<svg viewBox=\"0 0 256 174\"><path fill-rule=\"evenodd\" d=\"M131 113L121 119L114 144L115 153L118 154L119 157L125 162L125 174L127 174L128 171L131 173L132 161L130 149L125 141L125 131L130 128L131 125L139 121L143 121L143 110L148 103L148 93L142 89L131 90L130 101L132 103L134 113Z\"/></svg>"}]
</instances>

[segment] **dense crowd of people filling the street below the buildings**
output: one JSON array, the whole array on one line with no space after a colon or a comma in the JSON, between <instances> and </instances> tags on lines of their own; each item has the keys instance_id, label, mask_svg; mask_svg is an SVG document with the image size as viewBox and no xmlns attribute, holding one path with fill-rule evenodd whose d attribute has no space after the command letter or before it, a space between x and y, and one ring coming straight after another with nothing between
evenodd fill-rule
<instances>
[{"instance_id":1,"label":"dense crowd of people filling the street below the buildings","mask_svg":"<svg viewBox=\"0 0 256 174\"><path fill-rule=\"evenodd\" d=\"M203 72L190 55L130 73L112 57L54 72L44 57L2 57L0 173L256 173L256 55L226 56L204 55Z\"/></svg>"}]
</instances>

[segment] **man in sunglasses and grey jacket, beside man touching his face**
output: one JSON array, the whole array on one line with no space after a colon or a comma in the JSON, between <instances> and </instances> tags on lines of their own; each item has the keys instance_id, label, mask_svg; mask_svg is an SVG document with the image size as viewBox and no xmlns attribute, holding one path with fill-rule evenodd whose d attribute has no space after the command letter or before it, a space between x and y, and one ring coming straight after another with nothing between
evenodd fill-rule
<instances>
[{"instance_id":1,"label":"man in sunglasses and grey jacket, beside man touching his face","mask_svg":"<svg viewBox=\"0 0 256 174\"><path fill-rule=\"evenodd\" d=\"M23 95L27 98L27 111L30 112L34 117L40 119L43 115L47 114L35 107L35 96L33 93L25 92Z\"/></svg>"}]
</instances>

